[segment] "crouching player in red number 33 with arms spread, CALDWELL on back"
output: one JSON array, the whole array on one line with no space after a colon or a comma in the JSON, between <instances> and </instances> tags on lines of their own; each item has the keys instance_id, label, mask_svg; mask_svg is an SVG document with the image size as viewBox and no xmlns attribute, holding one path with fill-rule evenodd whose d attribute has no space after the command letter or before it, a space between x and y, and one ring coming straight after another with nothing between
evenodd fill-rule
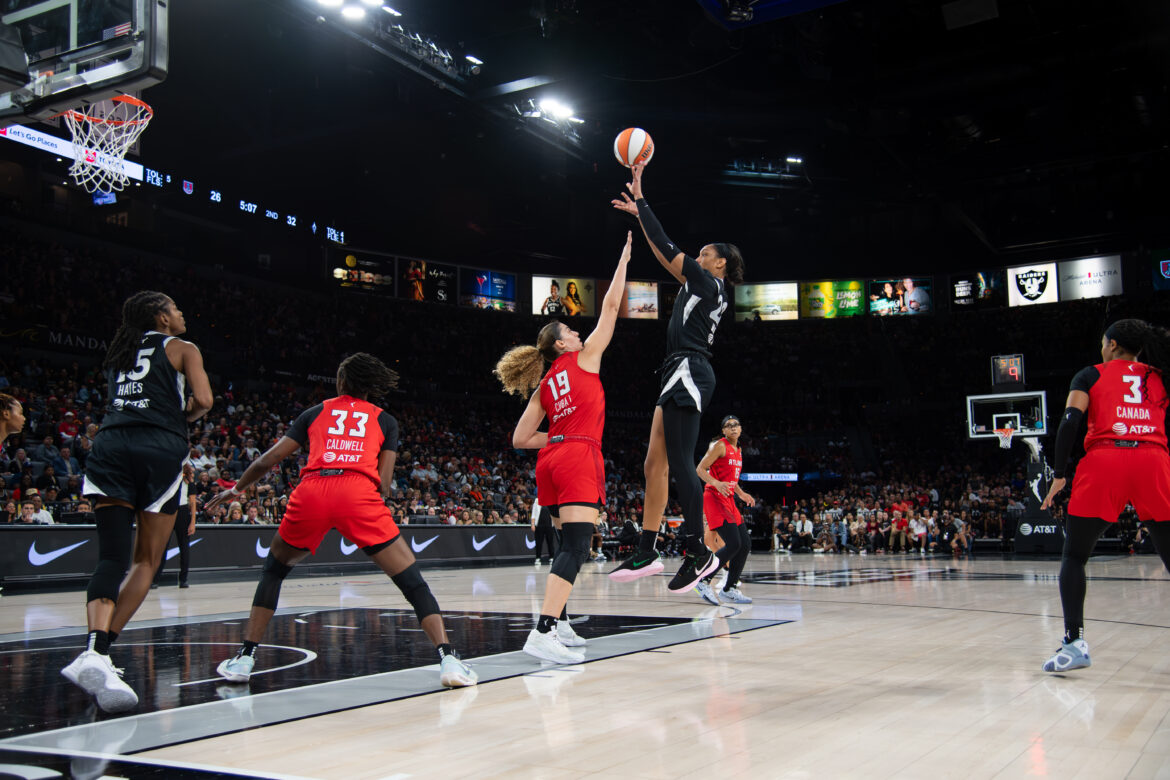
<instances>
[{"instance_id":1,"label":"crouching player in red number 33 with arms spread, CALDWELL on back","mask_svg":"<svg viewBox=\"0 0 1170 780\"><path fill-rule=\"evenodd\" d=\"M365 352L351 354L337 367L337 398L307 409L278 442L252 462L240 481L207 502L207 509L230 501L273 467L302 447L309 462L301 483L273 537L243 644L216 671L233 683L246 683L280 600L281 584L292 567L316 552L330 529L337 529L386 572L406 600L427 637L439 650L439 679L447 688L474 685L477 675L447 641L439 603L422 579L410 545L386 508L398 456L398 421L370 402L398 385L398 374Z\"/></svg>"}]
</instances>

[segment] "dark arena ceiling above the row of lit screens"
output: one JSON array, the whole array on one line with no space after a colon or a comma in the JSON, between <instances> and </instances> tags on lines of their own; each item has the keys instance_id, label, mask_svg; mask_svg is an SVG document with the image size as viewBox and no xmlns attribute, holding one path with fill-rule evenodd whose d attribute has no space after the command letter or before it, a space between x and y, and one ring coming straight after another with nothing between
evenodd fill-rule
<instances>
[{"instance_id":1,"label":"dark arena ceiling above the row of lit screens","mask_svg":"<svg viewBox=\"0 0 1170 780\"><path fill-rule=\"evenodd\" d=\"M762 0L743 26L720 0L393 6L482 73L420 76L317 0L173 4L144 154L298 192L366 246L517 270L610 265L628 125L656 141L672 236L736 241L771 278L1168 237L1164 0ZM542 96L578 143L515 115ZM789 157L782 179L728 172Z\"/></svg>"}]
</instances>

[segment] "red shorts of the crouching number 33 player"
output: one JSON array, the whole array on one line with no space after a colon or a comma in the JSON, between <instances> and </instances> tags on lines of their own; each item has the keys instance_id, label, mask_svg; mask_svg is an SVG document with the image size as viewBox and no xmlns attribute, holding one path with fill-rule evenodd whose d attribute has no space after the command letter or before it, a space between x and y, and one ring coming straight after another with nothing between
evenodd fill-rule
<instances>
[{"instance_id":1,"label":"red shorts of the crouching number 33 player","mask_svg":"<svg viewBox=\"0 0 1170 780\"><path fill-rule=\"evenodd\" d=\"M398 536L377 485L360 474L307 476L292 491L277 533L294 547L317 552L330 529L360 547Z\"/></svg>"}]
</instances>

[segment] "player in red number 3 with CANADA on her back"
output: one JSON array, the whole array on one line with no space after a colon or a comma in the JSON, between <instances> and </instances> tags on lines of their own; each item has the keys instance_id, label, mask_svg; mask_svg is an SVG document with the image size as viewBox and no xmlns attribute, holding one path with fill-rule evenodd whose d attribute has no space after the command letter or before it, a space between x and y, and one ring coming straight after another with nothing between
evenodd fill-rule
<instances>
[{"instance_id":1,"label":"player in red number 3 with CANADA on her back","mask_svg":"<svg viewBox=\"0 0 1170 780\"><path fill-rule=\"evenodd\" d=\"M1088 415L1085 457L1076 467L1060 561L1065 636L1045 671L1089 665L1085 642L1085 564L1096 540L1127 503L1150 530L1170 570L1170 453L1166 451L1166 387L1170 332L1141 319L1122 319L1101 338L1102 363L1073 378L1057 430L1048 509L1065 488L1065 469L1081 417Z\"/></svg>"}]
</instances>

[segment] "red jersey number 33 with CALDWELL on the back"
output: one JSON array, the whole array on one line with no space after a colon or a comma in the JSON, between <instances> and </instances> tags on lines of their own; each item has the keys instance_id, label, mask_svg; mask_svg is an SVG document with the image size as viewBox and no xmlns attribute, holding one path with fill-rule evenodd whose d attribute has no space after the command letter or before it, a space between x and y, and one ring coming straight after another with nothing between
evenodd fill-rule
<instances>
[{"instance_id":1,"label":"red jersey number 33 with CALDWELL on the back","mask_svg":"<svg viewBox=\"0 0 1170 780\"><path fill-rule=\"evenodd\" d=\"M304 472L345 469L381 483L378 456L398 449L398 422L380 407L349 395L305 410L285 434L308 447Z\"/></svg>"}]
</instances>

